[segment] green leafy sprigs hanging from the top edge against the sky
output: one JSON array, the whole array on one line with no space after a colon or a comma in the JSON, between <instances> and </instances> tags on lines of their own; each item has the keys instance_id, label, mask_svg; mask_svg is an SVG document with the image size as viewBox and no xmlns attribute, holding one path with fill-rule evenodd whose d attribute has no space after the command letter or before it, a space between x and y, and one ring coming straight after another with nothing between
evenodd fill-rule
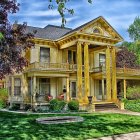
<instances>
[{"instance_id":1,"label":"green leafy sprigs hanging from the top edge against the sky","mask_svg":"<svg viewBox=\"0 0 140 140\"><path fill-rule=\"evenodd\" d=\"M73 15L74 9L67 8L67 3L71 0L49 0L49 9L57 8L61 18L62 18L62 27L66 24L66 13ZM87 0L90 4L92 3L92 0Z\"/></svg>"}]
</instances>

